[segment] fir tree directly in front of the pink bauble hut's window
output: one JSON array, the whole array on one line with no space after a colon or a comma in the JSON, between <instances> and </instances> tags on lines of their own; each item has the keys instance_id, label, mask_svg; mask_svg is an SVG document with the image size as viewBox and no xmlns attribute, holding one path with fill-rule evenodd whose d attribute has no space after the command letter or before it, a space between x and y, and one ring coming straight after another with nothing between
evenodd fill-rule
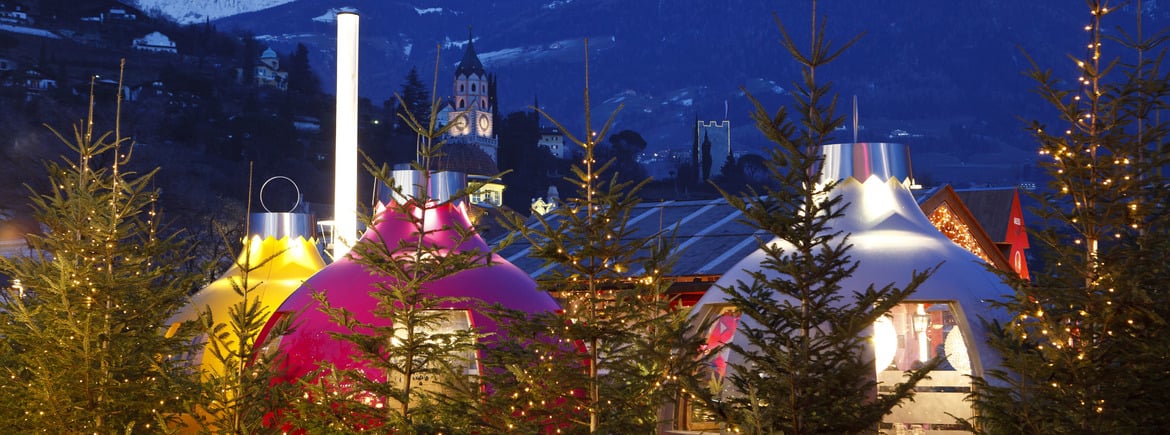
<instances>
[{"instance_id":1,"label":"fir tree directly in front of the pink bauble hut's window","mask_svg":"<svg viewBox=\"0 0 1170 435\"><path fill-rule=\"evenodd\" d=\"M438 78L438 58L435 67ZM402 96L399 104L406 106ZM443 207L429 196L433 167L440 154L441 139L449 126L436 127L439 102L432 102L425 118L400 112L399 119L420 137L419 160L412 168L421 173L422 186L397 186L385 164L366 159L365 168L398 200L385 203L386 218L372 216L365 222L374 228L377 219L401 219L412 228L410 236L398 240L378 234L360 240L350 256L371 275L379 277L370 295L376 305L369 308L376 320L357 319L347 308L335 306L321 291L314 294L319 309L344 332L332 338L351 344L352 358L364 368L339 368L323 362L321 370L301 380L303 400L294 401L294 424L310 433L346 433L378 428L395 434L433 433L442 429L445 419L435 416L433 403L446 394L446 385L461 382L464 368L474 364L469 357L480 338L473 329L447 327L453 305L468 301L439 296L427 286L464 270L490 265L491 251L467 248L474 230L459 225L433 221L433 210ZM415 191L417 194L411 194ZM456 198L466 198L466 192ZM436 243L433 237L452 237ZM448 249L449 247L460 247ZM318 289L319 290L319 289Z\"/></svg>"}]
</instances>

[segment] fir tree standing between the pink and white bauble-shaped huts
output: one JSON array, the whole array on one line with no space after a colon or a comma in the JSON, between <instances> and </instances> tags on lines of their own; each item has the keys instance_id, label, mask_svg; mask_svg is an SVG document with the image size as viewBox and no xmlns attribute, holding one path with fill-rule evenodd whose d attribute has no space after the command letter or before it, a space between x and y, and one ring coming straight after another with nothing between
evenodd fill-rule
<instances>
[{"instance_id":1,"label":"fir tree standing between the pink and white bauble-shaped huts","mask_svg":"<svg viewBox=\"0 0 1170 435\"><path fill-rule=\"evenodd\" d=\"M653 434L669 423L660 410L680 394L679 378L700 364L697 334L667 295L677 255L672 235L635 236L629 222L647 181L619 181L613 160L596 160L617 113L586 130L597 134L566 133L585 152L570 178L576 194L534 216L536 225L508 222L551 268L537 283L564 312L502 316L510 340L486 352L495 371L477 415L494 430ZM587 61L585 125L592 125Z\"/></svg>"}]
</instances>

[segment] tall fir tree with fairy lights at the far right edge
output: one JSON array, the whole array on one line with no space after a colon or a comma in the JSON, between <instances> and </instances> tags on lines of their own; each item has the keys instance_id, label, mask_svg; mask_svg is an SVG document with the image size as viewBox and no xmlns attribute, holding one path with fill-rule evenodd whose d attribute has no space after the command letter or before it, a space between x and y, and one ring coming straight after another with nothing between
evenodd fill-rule
<instances>
[{"instance_id":1,"label":"tall fir tree with fairy lights at the far right edge","mask_svg":"<svg viewBox=\"0 0 1170 435\"><path fill-rule=\"evenodd\" d=\"M1016 294L1003 305L1014 317L991 325L1004 371L977 380L971 396L984 433L1170 428L1170 415L1151 412L1170 401L1168 125L1157 120L1170 96L1164 36L1142 35L1140 2L1136 34L1113 39L1104 26L1115 9L1087 7L1076 87L1034 63L1031 71L1060 117L1055 127L1028 126L1051 179L1051 193L1037 198L1041 227L1031 232L1044 269L1031 283L1007 277Z\"/></svg>"}]
</instances>

